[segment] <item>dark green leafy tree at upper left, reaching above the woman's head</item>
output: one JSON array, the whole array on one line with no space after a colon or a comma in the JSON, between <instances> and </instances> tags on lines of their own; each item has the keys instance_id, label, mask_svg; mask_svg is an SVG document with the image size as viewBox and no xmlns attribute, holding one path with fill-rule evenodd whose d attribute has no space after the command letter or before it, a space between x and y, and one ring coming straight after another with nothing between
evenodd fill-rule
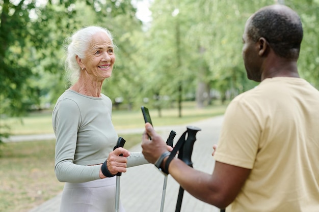
<instances>
[{"instance_id":1,"label":"dark green leafy tree at upper left, reaching above the woman's head","mask_svg":"<svg viewBox=\"0 0 319 212\"><path fill-rule=\"evenodd\" d=\"M5 0L0 2L0 12L0 115L4 118L20 116L33 105L41 108L40 100L46 96L48 102L55 102L68 86L61 55L63 41L74 29L98 24L112 31L120 26L119 16L132 19L136 9L127 1L61 0L41 5ZM0 130L1 142L8 131L1 123Z\"/></svg>"}]
</instances>

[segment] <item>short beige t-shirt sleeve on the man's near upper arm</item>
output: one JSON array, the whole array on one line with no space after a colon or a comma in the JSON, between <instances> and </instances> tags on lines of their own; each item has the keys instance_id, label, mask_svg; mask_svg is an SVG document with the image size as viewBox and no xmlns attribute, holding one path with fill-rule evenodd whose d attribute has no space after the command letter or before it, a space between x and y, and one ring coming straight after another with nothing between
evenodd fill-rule
<instances>
[{"instance_id":1,"label":"short beige t-shirt sleeve on the man's near upper arm","mask_svg":"<svg viewBox=\"0 0 319 212\"><path fill-rule=\"evenodd\" d=\"M260 125L252 107L234 100L226 109L214 158L218 162L252 169L259 137Z\"/></svg>"}]
</instances>

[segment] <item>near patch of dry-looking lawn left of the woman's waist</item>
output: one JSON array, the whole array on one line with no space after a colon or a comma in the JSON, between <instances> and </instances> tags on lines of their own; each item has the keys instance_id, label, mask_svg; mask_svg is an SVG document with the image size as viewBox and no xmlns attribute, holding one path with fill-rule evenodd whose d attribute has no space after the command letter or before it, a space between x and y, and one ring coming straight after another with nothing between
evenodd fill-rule
<instances>
[{"instance_id":1,"label":"near patch of dry-looking lawn left of the woman's waist","mask_svg":"<svg viewBox=\"0 0 319 212\"><path fill-rule=\"evenodd\" d=\"M0 211L29 211L63 188L54 173L55 141L1 146Z\"/></svg>"}]
</instances>

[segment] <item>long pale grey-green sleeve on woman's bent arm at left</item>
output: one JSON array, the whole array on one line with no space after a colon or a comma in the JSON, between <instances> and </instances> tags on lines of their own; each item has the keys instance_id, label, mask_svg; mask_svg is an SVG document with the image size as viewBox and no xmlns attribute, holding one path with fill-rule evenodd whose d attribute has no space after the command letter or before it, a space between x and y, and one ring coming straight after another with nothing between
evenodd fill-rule
<instances>
[{"instance_id":1,"label":"long pale grey-green sleeve on woman's bent arm at left","mask_svg":"<svg viewBox=\"0 0 319 212\"><path fill-rule=\"evenodd\" d=\"M70 99L62 99L52 113L52 125L56 134L55 173L59 181L84 183L99 179L100 166L73 164L77 131L81 125L81 112Z\"/></svg>"}]
</instances>

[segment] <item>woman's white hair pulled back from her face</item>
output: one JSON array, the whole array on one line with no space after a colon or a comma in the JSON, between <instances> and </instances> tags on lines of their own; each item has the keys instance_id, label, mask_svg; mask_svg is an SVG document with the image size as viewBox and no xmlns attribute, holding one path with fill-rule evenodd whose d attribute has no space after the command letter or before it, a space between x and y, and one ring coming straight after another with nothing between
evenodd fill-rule
<instances>
[{"instance_id":1,"label":"woman's white hair pulled back from her face","mask_svg":"<svg viewBox=\"0 0 319 212\"><path fill-rule=\"evenodd\" d=\"M85 58L85 52L88 50L89 41L96 33L103 32L109 36L113 44L113 36L110 31L100 26L87 26L76 31L71 37L66 38L64 46L66 50L65 70L67 79L74 84L81 73L81 67L76 62L76 55L79 58Z\"/></svg>"}]
</instances>

